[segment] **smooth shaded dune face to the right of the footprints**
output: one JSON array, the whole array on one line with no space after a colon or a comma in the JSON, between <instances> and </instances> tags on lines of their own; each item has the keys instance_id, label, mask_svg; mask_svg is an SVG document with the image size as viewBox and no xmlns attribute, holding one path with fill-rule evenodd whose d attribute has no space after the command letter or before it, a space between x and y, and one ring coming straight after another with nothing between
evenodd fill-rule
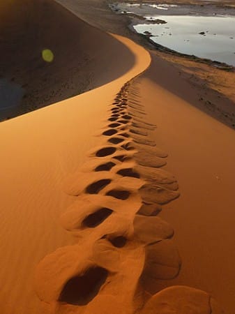
<instances>
[{"instance_id":1,"label":"smooth shaded dune face to the right of the footprints","mask_svg":"<svg viewBox=\"0 0 235 314\"><path fill-rule=\"evenodd\" d=\"M181 197L160 217L174 227L183 261L179 276L158 282L158 289L190 285L234 314L234 130L195 108L197 89L152 57L135 84L147 121L158 126L151 138L169 152L167 170L180 182Z\"/></svg>"}]
</instances>

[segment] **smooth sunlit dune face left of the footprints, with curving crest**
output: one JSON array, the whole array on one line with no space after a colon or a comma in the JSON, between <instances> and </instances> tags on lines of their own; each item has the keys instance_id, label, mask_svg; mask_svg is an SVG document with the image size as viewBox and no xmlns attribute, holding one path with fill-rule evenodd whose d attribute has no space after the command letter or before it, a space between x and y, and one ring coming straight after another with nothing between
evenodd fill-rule
<instances>
[{"instance_id":1,"label":"smooth sunlit dune face left of the footprints, with curving crest","mask_svg":"<svg viewBox=\"0 0 235 314\"><path fill-rule=\"evenodd\" d=\"M102 40L89 29L96 40ZM103 87L0 125L0 278L4 283L1 313L43 313L33 290L36 264L59 246L75 243L58 223L59 215L75 200L64 193L63 179L84 163L92 147L102 146L100 138L93 135L104 126L103 119L114 94L150 61L142 47L119 36L115 40L109 54L118 53L118 60L126 68L131 66L125 75ZM94 63L100 68L99 58L103 57L97 57ZM134 64L130 62L133 59ZM107 79L120 75L118 60L109 63L112 73Z\"/></svg>"}]
</instances>

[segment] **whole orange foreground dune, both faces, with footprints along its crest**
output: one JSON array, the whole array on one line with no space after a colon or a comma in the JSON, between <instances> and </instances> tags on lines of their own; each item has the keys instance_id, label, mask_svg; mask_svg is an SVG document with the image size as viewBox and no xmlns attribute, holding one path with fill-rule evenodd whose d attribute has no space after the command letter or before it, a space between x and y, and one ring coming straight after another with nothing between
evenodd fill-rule
<instances>
[{"instance_id":1,"label":"whole orange foreground dune, both faces, with footprints along its crest","mask_svg":"<svg viewBox=\"0 0 235 314\"><path fill-rule=\"evenodd\" d=\"M219 314L215 297L232 314L234 133L174 68L105 38L126 73L0 125L1 313Z\"/></svg>"}]
</instances>

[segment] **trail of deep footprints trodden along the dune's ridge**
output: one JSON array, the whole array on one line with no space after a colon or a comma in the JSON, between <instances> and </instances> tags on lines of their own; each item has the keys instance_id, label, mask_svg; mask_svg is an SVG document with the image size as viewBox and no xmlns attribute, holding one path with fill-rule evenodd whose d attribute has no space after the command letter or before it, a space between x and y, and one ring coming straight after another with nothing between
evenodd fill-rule
<instances>
[{"instance_id":1,"label":"trail of deep footprints trodden along the dune's ridge","mask_svg":"<svg viewBox=\"0 0 235 314\"><path fill-rule=\"evenodd\" d=\"M77 200L60 221L77 244L38 264L45 313L213 313L206 292L176 286L153 293L159 279L176 277L181 267L174 231L156 216L179 197L178 184L160 169L167 154L147 140L142 126L155 126L144 119L135 81L123 85L109 113L115 120L102 130L100 146L63 184ZM151 167L156 157L164 161Z\"/></svg>"}]
</instances>

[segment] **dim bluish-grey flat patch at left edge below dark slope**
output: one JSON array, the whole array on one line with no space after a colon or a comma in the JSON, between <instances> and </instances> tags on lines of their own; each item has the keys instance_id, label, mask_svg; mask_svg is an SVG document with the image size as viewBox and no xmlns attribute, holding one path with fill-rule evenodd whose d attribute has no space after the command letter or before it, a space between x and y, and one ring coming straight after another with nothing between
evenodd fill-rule
<instances>
[{"instance_id":1,"label":"dim bluish-grey flat patch at left edge below dark slope","mask_svg":"<svg viewBox=\"0 0 235 314\"><path fill-rule=\"evenodd\" d=\"M14 112L24 96L24 89L15 82L0 79L0 119Z\"/></svg>"}]
</instances>

